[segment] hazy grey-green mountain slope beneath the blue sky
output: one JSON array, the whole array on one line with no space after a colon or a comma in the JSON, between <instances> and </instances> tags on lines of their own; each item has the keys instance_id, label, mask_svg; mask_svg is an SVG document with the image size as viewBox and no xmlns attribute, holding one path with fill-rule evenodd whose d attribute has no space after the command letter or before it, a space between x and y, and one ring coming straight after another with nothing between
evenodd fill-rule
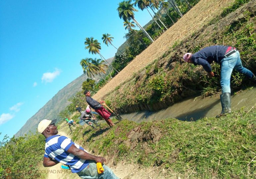
<instances>
[{"instance_id":1,"label":"hazy grey-green mountain slope beneath the blue sky","mask_svg":"<svg viewBox=\"0 0 256 179\"><path fill-rule=\"evenodd\" d=\"M113 58L107 59L111 63ZM86 81L87 75L82 74L74 81L66 85L63 89L59 90L52 99L50 99L35 115L33 115L24 126L15 134L15 137L23 136L29 131L35 132L38 123L43 119L54 119L70 102L67 100L72 97L76 92L82 90L82 83ZM100 80L99 76L95 76L94 80Z\"/></svg>"}]
</instances>

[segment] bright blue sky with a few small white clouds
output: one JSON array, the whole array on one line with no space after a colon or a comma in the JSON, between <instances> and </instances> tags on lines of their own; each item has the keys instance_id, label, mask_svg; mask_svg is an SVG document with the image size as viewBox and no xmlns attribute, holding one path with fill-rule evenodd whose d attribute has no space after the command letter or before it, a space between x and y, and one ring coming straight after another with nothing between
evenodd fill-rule
<instances>
[{"instance_id":1,"label":"bright blue sky with a few small white clouds","mask_svg":"<svg viewBox=\"0 0 256 179\"><path fill-rule=\"evenodd\" d=\"M12 137L59 90L82 74L84 38L110 33L119 47L127 31L116 11L121 0L0 1L0 140ZM150 21L146 11L136 20ZM101 43L101 54L116 50Z\"/></svg>"}]
</instances>

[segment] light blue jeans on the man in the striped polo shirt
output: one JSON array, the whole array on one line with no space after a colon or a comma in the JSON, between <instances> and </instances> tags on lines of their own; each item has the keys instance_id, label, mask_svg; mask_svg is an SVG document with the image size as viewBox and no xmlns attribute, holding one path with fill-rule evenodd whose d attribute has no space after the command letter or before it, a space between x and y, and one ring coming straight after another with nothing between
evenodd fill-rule
<instances>
[{"instance_id":1,"label":"light blue jeans on the man in the striped polo shirt","mask_svg":"<svg viewBox=\"0 0 256 179\"><path fill-rule=\"evenodd\" d=\"M99 174L97 171L96 162L94 160L88 160L89 165L86 166L82 171L78 172L77 175L83 179L94 179L94 178L102 178L102 179L120 179L118 178L114 172L108 168L108 166L102 164L104 172Z\"/></svg>"}]
</instances>

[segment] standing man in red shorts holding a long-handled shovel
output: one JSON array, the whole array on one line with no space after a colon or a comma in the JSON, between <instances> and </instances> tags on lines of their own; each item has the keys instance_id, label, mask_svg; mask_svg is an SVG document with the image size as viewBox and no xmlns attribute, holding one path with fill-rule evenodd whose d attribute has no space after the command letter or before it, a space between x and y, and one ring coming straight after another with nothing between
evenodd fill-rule
<instances>
[{"instance_id":1,"label":"standing man in red shorts holding a long-handled shovel","mask_svg":"<svg viewBox=\"0 0 256 179\"><path fill-rule=\"evenodd\" d=\"M100 116L102 116L110 127L114 126L114 123L109 118L111 113L101 105L104 103L104 101L98 102L91 98L91 92L89 90L85 90L84 95L86 96L86 102L89 104L89 106L94 109L95 112L97 112Z\"/></svg>"}]
</instances>

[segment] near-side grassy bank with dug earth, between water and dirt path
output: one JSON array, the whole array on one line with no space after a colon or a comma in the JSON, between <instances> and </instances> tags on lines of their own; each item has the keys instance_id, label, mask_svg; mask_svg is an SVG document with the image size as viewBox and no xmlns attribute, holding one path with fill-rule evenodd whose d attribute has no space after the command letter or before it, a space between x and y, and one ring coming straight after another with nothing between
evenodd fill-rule
<instances>
[{"instance_id":1,"label":"near-side grassy bank with dug earth, between water and dirt path","mask_svg":"<svg viewBox=\"0 0 256 179\"><path fill-rule=\"evenodd\" d=\"M115 162L157 166L159 175L193 178L256 177L256 106L196 122L165 119L136 124L124 120L109 129L77 128L72 139ZM161 170L163 171L163 170ZM192 172L193 171L193 172Z\"/></svg>"}]
</instances>

